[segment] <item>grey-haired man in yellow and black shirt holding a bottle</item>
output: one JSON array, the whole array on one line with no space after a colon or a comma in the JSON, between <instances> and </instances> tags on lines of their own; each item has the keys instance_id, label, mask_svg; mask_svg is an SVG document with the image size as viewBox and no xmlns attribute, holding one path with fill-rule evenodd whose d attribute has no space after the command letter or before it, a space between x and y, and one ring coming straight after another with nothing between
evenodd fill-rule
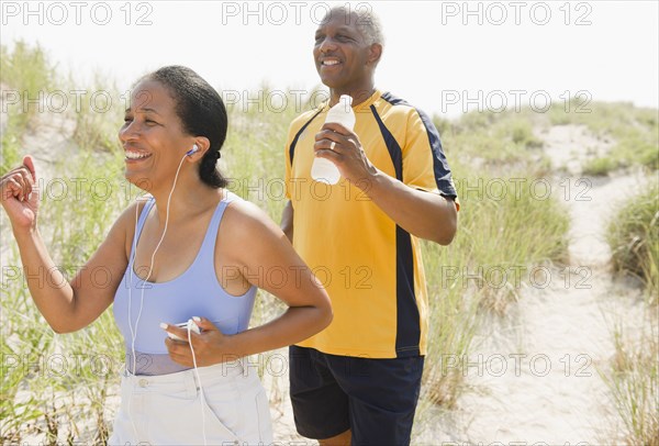
<instances>
[{"instance_id":1,"label":"grey-haired man in yellow and black shirt holding a bottle","mask_svg":"<svg viewBox=\"0 0 659 446\"><path fill-rule=\"evenodd\" d=\"M443 245L457 227L450 170L431 120L375 88L379 21L332 9L313 56L328 104L293 121L282 228L324 282L334 322L290 349L298 432L321 445L410 443L426 350L427 296L418 238ZM354 132L325 124L353 97ZM342 180L314 182L314 156Z\"/></svg>"}]
</instances>

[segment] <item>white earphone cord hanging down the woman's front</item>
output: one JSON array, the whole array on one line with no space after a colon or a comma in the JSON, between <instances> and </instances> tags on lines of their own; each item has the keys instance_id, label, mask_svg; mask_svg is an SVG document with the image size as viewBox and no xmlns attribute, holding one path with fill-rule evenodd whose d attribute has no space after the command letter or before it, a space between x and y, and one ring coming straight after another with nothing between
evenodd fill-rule
<instances>
[{"instance_id":1,"label":"white earphone cord hanging down the woman's front","mask_svg":"<svg viewBox=\"0 0 659 446\"><path fill-rule=\"evenodd\" d=\"M197 152L197 150L196 150ZM171 202L171 197L174 196L174 190L176 189L176 183L178 181L178 176L179 172L181 170L181 166L183 165L183 161L186 160L186 157L189 155L190 153L187 153L186 155L183 155L183 157L181 158L181 161L179 163L178 168L176 169L176 176L174 177L174 185L171 186L171 191L169 192L169 197L167 198L167 208L166 208L166 216L165 216L165 227L163 228L163 235L160 236L160 239L158 241L158 244L156 245L156 248L154 249L154 253L152 254L150 257L150 265L148 267L148 272L146 275L146 278L143 281L142 285L142 290L139 293L139 311L137 312L137 319L135 320L135 326L133 327L133 320L131 317L131 308L132 308L132 303L133 303L133 268L134 268L134 261L135 261L135 255L136 255L136 248L137 248L137 220L138 220L138 208L139 207L135 207L135 232L133 234L133 247L132 247L132 259L129 263L129 327L131 330L131 353L133 355L133 371L132 373L135 375L136 370L137 370L137 356L135 355L135 338L137 335L137 325L139 324L139 317L142 316L142 309L144 306L144 289L146 288L146 283L148 283L148 279L150 279L150 275L154 271L154 261L156 258L156 253L158 252L158 249L160 248L160 245L163 244L163 241L165 239L165 234L167 234L167 225L169 224L169 203ZM144 196L139 196L137 198L137 200L139 198L142 198ZM200 397L201 397L201 424L202 424L202 428L203 428L203 444L206 445L206 435L205 435L205 414L203 411L203 406L205 405L205 395L203 393L203 387L201 386L201 378L199 377L199 370L197 369L197 357L194 355L194 347L192 347L192 338L190 335L190 326L188 324L188 343L190 344L190 350L192 352L192 363L194 366L194 373L197 376L197 381L199 383L199 392L200 392ZM133 425L133 431L135 432L135 437L137 437L137 427L135 426L135 422L133 421L133 416L131 416L131 401L129 401L127 404L127 412L129 412L129 419L131 420L131 424Z\"/></svg>"}]
</instances>

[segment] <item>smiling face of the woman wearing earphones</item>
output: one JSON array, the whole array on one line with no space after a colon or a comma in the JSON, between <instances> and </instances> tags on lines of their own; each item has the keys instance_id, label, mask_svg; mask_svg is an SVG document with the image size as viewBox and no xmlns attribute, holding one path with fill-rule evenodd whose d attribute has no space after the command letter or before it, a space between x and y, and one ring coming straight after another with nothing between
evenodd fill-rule
<instances>
[{"instance_id":1,"label":"smiling face of the woman wearing earphones","mask_svg":"<svg viewBox=\"0 0 659 446\"><path fill-rule=\"evenodd\" d=\"M143 80L131 94L119 140L125 153L125 177L141 189L171 187L181 158L194 144L175 107L168 90L155 80Z\"/></svg>"}]
</instances>

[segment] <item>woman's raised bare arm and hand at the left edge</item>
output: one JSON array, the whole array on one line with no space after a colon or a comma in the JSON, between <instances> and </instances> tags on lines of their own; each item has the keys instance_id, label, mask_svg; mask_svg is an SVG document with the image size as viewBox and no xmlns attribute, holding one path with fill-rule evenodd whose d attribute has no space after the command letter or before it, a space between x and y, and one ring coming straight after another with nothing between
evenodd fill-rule
<instances>
[{"instance_id":1,"label":"woman's raised bare arm and hand at the left edge","mask_svg":"<svg viewBox=\"0 0 659 446\"><path fill-rule=\"evenodd\" d=\"M34 164L26 156L23 166L0 180L0 201L11 221L23 276L36 306L55 332L74 332L93 322L114 299L127 265L125 222L130 212L118 220L96 254L69 282L51 258L38 231L35 179ZM101 276L103 283L98 283Z\"/></svg>"}]
</instances>

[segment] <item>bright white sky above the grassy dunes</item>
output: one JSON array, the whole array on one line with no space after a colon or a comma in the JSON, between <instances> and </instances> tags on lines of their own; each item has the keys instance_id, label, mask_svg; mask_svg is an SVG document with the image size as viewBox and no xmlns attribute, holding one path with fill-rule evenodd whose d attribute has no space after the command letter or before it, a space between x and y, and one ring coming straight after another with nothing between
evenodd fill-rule
<instances>
[{"instance_id":1,"label":"bright white sky above the grassy dunes","mask_svg":"<svg viewBox=\"0 0 659 446\"><path fill-rule=\"evenodd\" d=\"M1 3L1 42L38 42L81 85L98 70L127 89L147 70L180 64L244 100L244 90L264 81L276 90L319 85L313 33L325 8L335 4ZM528 105L532 94L541 109L547 94L562 101L566 91L659 107L657 1L350 3L372 8L382 20L387 45L377 86L429 113L498 109L503 97L513 109ZM138 25L139 18L150 24ZM468 103L470 98L478 103Z\"/></svg>"}]
</instances>

